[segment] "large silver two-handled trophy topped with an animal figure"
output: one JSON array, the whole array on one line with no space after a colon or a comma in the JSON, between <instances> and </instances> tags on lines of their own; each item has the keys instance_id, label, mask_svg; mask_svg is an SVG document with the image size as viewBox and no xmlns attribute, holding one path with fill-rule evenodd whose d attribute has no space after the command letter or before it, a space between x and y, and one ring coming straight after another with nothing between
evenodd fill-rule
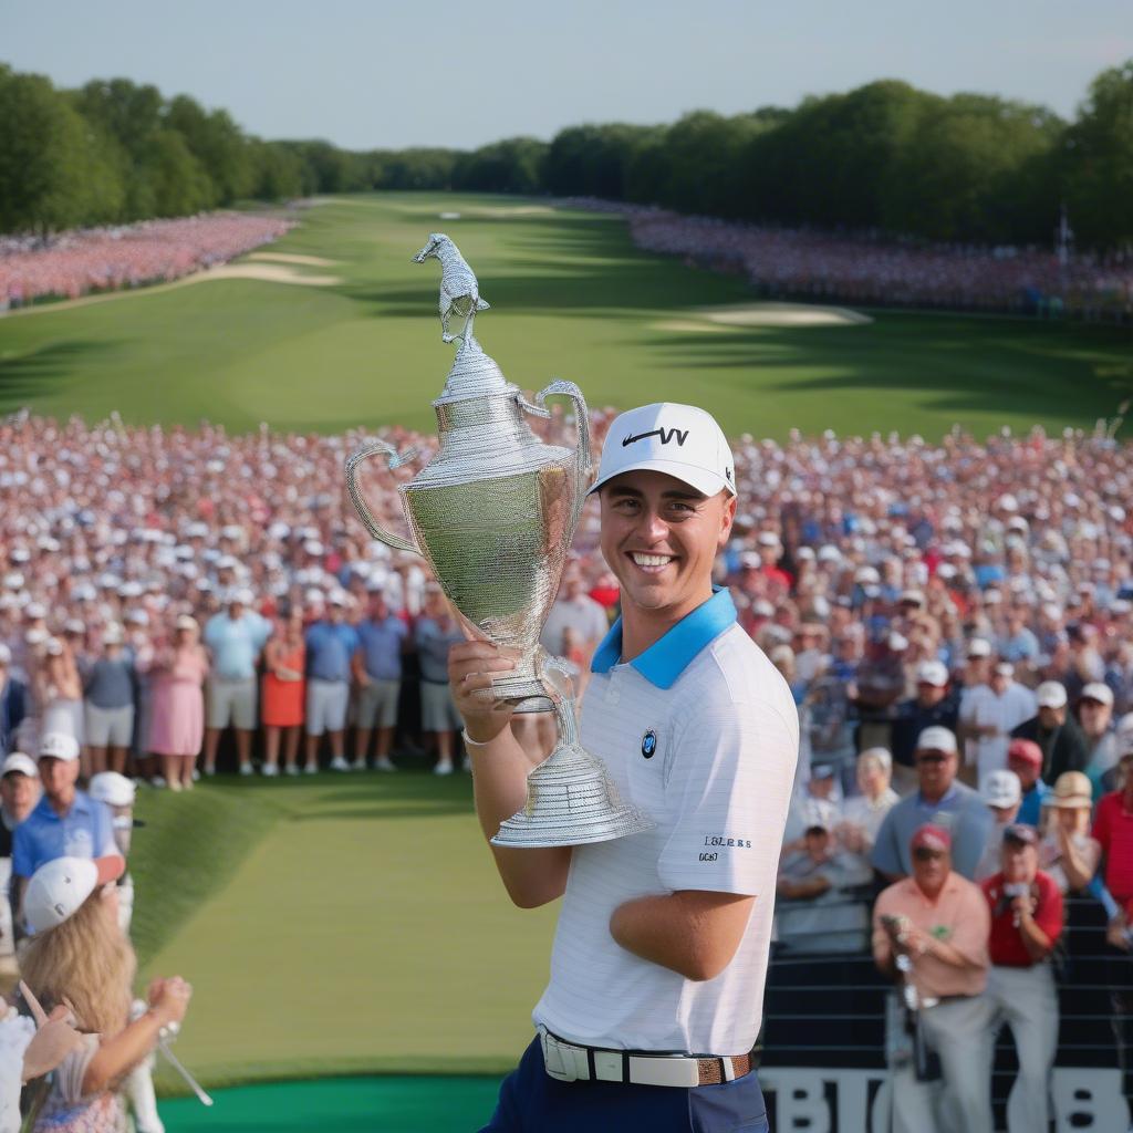
<instances>
[{"instance_id":1,"label":"large silver two-handled trophy topped with an animal figure","mask_svg":"<svg viewBox=\"0 0 1133 1133\"><path fill-rule=\"evenodd\" d=\"M527 401L472 335L480 299L476 275L457 246L435 232L415 257L441 261L441 325L460 346L436 410L440 450L398 487L410 538L386 530L358 485L361 465L385 457L391 469L417 457L372 441L347 461L347 487L375 538L426 559L472 636L518 650L516 668L485 695L516 712L553 712L559 743L528 777L527 806L492 840L503 846L580 845L648 829L651 823L617 795L602 761L578 742L570 680L539 645L590 482L586 402L573 382L552 382ZM453 315L463 320L450 330ZM578 446L544 444L525 414L550 417L548 397L574 404Z\"/></svg>"}]
</instances>

